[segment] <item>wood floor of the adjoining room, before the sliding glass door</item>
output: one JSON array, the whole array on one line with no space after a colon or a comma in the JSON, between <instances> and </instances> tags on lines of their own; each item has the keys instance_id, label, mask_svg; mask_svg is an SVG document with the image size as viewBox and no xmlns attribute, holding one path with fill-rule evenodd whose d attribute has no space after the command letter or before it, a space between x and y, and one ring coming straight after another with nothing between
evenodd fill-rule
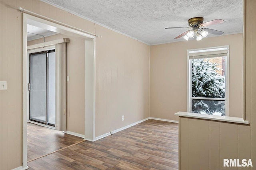
<instances>
[{"instance_id":1,"label":"wood floor of the adjoining room, before the sliding glass door","mask_svg":"<svg viewBox=\"0 0 256 170\"><path fill-rule=\"evenodd\" d=\"M28 161L83 140L33 123L28 123L27 134Z\"/></svg>"}]
</instances>

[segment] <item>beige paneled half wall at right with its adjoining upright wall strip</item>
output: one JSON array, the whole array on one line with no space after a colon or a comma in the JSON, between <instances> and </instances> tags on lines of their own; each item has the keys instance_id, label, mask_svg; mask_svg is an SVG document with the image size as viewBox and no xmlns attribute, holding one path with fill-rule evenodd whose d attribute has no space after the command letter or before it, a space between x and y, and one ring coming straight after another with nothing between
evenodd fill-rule
<instances>
[{"instance_id":1,"label":"beige paneled half wall at right with its adjoining upright wall strip","mask_svg":"<svg viewBox=\"0 0 256 170\"><path fill-rule=\"evenodd\" d=\"M180 117L180 170L255 170L256 1L246 2L246 120L250 124ZM251 159L253 167L223 167L223 159Z\"/></svg>"}]
</instances>

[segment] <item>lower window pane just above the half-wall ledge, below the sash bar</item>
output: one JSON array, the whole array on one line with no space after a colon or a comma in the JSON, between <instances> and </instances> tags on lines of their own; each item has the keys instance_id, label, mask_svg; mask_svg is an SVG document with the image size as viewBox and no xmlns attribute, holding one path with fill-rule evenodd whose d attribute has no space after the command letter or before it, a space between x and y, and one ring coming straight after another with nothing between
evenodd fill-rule
<instances>
[{"instance_id":1,"label":"lower window pane just above the half-wall ledge, below the sash bar","mask_svg":"<svg viewBox=\"0 0 256 170\"><path fill-rule=\"evenodd\" d=\"M192 99L192 113L225 115L225 101Z\"/></svg>"}]
</instances>

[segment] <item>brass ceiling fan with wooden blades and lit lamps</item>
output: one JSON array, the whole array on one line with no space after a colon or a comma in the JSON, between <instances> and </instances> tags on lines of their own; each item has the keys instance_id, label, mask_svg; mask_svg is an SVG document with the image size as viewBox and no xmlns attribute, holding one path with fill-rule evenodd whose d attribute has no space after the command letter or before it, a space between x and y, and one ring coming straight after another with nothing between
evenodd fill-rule
<instances>
[{"instance_id":1,"label":"brass ceiling fan with wooden blades and lit lamps","mask_svg":"<svg viewBox=\"0 0 256 170\"><path fill-rule=\"evenodd\" d=\"M204 37L208 35L208 33L212 33L214 35L222 35L224 32L218 31L215 29L209 29L205 28L206 26L218 24L218 23L223 23L225 22L224 20L216 19L212 21L208 21L203 23L204 18L202 17L195 17L195 18L190 18L188 20L188 26L189 27L168 27L165 29L173 29L173 28L192 28L192 30L188 30L182 34L180 34L178 37L175 37L175 39L180 38L183 36L184 39L188 41L189 38L196 38L197 41L200 41Z\"/></svg>"}]
</instances>

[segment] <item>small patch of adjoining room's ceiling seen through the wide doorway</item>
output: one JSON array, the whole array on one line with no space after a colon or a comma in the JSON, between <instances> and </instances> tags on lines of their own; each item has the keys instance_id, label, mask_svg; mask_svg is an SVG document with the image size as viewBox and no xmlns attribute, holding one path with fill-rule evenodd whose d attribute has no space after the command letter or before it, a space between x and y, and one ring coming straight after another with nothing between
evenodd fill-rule
<instances>
[{"instance_id":1,"label":"small patch of adjoining room's ceiling seen through the wide doorway","mask_svg":"<svg viewBox=\"0 0 256 170\"><path fill-rule=\"evenodd\" d=\"M52 31L49 31L46 29L35 27L33 25L27 25L27 27L28 27L28 30L27 30L28 41L32 41L34 39L40 39L40 38L43 38L43 36L48 37L51 35L58 34L56 32L52 32ZM35 35L35 34L38 34L38 35Z\"/></svg>"}]
</instances>

